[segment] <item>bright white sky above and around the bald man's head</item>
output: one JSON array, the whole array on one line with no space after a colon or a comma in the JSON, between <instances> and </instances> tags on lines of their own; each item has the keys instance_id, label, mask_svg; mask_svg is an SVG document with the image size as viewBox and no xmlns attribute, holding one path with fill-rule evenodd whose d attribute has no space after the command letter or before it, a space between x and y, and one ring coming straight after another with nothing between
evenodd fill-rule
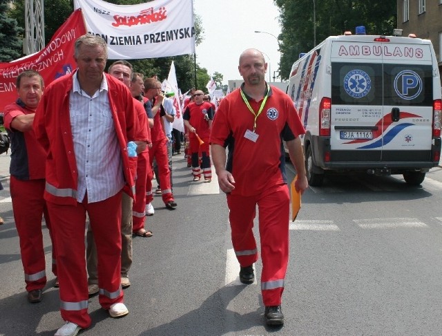
<instances>
[{"instance_id":1,"label":"bright white sky above and around the bald man's head","mask_svg":"<svg viewBox=\"0 0 442 336\"><path fill-rule=\"evenodd\" d=\"M195 0L193 6L204 28L204 41L196 46L196 60L209 75L221 73L223 84L242 79L238 73L240 54L247 48L257 48L265 53L269 64L265 79L269 81L271 73L273 82L280 59L275 37L281 31L279 9L273 0Z\"/></svg>"}]
</instances>

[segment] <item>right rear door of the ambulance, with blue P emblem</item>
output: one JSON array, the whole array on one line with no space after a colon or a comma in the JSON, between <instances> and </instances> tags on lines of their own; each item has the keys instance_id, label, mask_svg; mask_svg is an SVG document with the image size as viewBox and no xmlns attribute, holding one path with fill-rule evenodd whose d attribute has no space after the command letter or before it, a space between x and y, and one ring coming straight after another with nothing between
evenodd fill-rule
<instances>
[{"instance_id":1,"label":"right rear door of the ambulance, with blue P emblem","mask_svg":"<svg viewBox=\"0 0 442 336\"><path fill-rule=\"evenodd\" d=\"M428 41L396 39L399 40L396 43L385 44L383 52L381 160L430 162L436 77L432 66L434 52ZM416 44L400 43L404 40L416 41Z\"/></svg>"}]
</instances>

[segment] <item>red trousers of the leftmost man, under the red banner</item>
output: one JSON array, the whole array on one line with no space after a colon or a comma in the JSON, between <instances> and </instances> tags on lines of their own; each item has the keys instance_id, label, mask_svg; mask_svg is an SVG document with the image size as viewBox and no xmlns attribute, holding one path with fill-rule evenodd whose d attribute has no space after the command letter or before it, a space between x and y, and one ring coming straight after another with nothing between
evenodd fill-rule
<instances>
[{"instance_id":1,"label":"red trousers of the leftmost man, under the red banner","mask_svg":"<svg viewBox=\"0 0 442 336\"><path fill-rule=\"evenodd\" d=\"M44 257L41 218L44 216L52 241L52 272L57 276L57 263L52 227L43 198L46 180L18 180L10 176L10 194L15 226L19 233L21 263L25 273L26 290L43 289L46 285L46 261Z\"/></svg>"}]
</instances>

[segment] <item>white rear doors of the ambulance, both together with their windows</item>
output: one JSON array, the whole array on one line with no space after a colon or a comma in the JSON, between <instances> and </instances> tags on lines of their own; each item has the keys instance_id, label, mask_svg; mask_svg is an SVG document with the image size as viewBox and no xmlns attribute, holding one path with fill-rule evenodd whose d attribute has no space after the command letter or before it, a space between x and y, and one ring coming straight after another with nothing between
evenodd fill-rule
<instances>
[{"instance_id":1,"label":"white rear doors of the ambulance, both together with their windows","mask_svg":"<svg viewBox=\"0 0 442 336\"><path fill-rule=\"evenodd\" d=\"M430 161L431 45L364 38L332 46L332 160Z\"/></svg>"}]
</instances>

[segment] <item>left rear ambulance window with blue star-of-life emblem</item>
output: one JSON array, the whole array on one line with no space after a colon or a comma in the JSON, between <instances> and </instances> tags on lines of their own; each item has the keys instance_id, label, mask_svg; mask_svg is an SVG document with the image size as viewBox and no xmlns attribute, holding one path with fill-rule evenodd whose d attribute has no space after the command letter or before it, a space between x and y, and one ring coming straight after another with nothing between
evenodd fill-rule
<instances>
[{"instance_id":1,"label":"left rear ambulance window with blue star-of-life emblem","mask_svg":"<svg viewBox=\"0 0 442 336\"><path fill-rule=\"evenodd\" d=\"M382 64L332 63L332 104L382 105Z\"/></svg>"}]
</instances>

